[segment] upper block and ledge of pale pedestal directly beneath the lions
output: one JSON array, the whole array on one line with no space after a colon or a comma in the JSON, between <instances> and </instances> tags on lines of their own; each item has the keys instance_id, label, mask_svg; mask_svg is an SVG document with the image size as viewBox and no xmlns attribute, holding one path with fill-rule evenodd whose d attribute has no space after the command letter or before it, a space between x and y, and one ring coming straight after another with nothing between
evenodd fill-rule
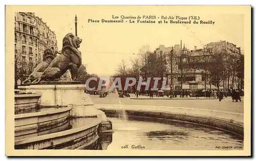
<instances>
[{"instance_id":1,"label":"upper block and ledge of pale pedestal directly beneath the lions","mask_svg":"<svg viewBox=\"0 0 256 161\"><path fill-rule=\"evenodd\" d=\"M45 81L39 85L19 86L20 92L40 93L40 105L89 105L92 99L84 93L85 85L79 81Z\"/></svg>"}]
</instances>

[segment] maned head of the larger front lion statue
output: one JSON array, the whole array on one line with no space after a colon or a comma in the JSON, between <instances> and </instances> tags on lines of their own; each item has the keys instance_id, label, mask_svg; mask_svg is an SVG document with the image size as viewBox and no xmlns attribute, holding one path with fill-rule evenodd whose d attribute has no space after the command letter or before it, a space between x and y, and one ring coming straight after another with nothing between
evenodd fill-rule
<instances>
[{"instance_id":1,"label":"maned head of the larger front lion statue","mask_svg":"<svg viewBox=\"0 0 256 161\"><path fill-rule=\"evenodd\" d=\"M80 43L82 42L82 39L80 39L79 37L73 35L72 33L68 33L64 38L63 38L63 44L62 46L71 46L71 47L75 47L75 48L79 48L80 47Z\"/></svg>"}]
</instances>

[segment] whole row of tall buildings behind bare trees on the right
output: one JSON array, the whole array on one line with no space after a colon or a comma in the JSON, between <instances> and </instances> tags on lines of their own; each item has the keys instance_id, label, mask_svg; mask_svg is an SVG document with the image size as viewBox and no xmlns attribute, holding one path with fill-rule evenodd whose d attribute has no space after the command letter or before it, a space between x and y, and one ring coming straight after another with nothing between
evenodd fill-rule
<instances>
[{"instance_id":1,"label":"whole row of tall buildings behind bare trees on the right","mask_svg":"<svg viewBox=\"0 0 256 161\"><path fill-rule=\"evenodd\" d=\"M203 49L197 49L195 46L193 50L189 50L185 45L183 48L180 46L175 45L169 52L163 54L165 65L163 77L167 77L167 86L175 87L181 82L184 84L197 82L220 89L238 88L233 86L239 84L234 68L241 56L240 47L227 41L210 42ZM213 59L215 62L211 61ZM217 67L222 71L217 71Z\"/></svg>"}]
</instances>

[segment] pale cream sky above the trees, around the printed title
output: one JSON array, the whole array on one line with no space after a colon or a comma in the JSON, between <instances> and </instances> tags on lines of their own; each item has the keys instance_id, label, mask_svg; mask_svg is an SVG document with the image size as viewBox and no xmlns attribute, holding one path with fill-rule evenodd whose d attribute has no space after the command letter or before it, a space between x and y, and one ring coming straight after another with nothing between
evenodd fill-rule
<instances>
[{"instance_id":1,"label":"pale cream sky above the trees, around the printed title","mask_svg":"<svg viewBox=\"0 0 256 161\"><path fill-rule=\"evenodd\" d=\"M113 75L122 59L130 66L130 60L137 57L140 47L145 44L154 51L159 45L169 47L180 44L180 40L188 49L226 40L242 50L244 48L244 15L239 12L233 14L234 11L174 6L51 6L47 10L44 7L33 10L55 32L59 50L63 37L70 32L75 34L74 17L77 15L78 37L82 39L79 48L82 63L90 74L99 76ZM215 24L88 23L88 19L112 20L112 15L197 15L201 20L212 20Z\"/></svg>"}]
</instances>

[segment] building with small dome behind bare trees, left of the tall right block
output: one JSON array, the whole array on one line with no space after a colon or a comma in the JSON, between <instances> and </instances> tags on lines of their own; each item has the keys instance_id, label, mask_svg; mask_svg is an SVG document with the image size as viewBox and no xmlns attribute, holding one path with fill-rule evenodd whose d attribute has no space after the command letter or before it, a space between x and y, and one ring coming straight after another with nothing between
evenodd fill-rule
<instances>
[{"instance_id":1,"label":"building with small dome behind bare trees, left of the tall right block","mask_svg":"<svg viewBox=\"0 0 256 161\"><path fill-rule=\"evenodd\" d=\"M204 52L204 49L189 50L183 45L175 45L172 50L164 55L164 64L166 67L165 77L168 85L179 85L180 82L190 81L204 82L205 77L200 70L200 63L203 62L210 54ZM181 63L182 62L182 66ZM185 65L186 64L186 65Z\"/></svg>"}]
</instances>

